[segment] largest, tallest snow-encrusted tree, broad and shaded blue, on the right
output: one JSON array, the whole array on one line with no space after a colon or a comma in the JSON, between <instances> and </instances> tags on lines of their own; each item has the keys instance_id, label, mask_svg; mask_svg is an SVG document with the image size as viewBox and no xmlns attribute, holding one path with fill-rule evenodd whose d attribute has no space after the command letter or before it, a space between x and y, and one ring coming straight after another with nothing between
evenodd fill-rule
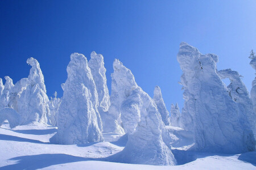
<instances>
[{"instance_id":1,"label":"largest, tallest snow-encrusted tree, broad and shaded blue, on the right","mask_svg":"<svg viewBox=\"0 0 256 170\"><path fill-rule=\"evenodd\" d=\"M181 42L177 61L183 71L185 99L181 118L184 125L189 125L186 129L193 128L195 150L223 153L255 150L253 131L245 113L216 73L218 57L203 55Z\"/></svg>"}]
</instances>

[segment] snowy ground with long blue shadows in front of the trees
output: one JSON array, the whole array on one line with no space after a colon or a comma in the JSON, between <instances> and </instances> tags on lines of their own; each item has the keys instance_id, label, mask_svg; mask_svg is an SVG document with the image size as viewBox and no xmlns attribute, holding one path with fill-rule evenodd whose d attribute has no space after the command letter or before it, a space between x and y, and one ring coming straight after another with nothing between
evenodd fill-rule
<instances>
[{"instance_id":1,"label":"snowy ground with long blue shadows in front of the trees","mask_svg":"<svg viewBox=\"0 0 256 170\"><path fill-rule=\"evenodd\" d=\"M53 126L40 124L10 129L5 122L0 128L0 169L256 169L256 152L237 155L190 152L187 155L190 162L180 154L188 163L176 166L107 162L108 156L122 151L126 144L127 139L117 141L120 134L104 134L106 142L53 145L49 138L56 130ZM185 153L173 152L175 156ZM179 158L176 159L179 163Z\"/></svg>"}]
</instances>

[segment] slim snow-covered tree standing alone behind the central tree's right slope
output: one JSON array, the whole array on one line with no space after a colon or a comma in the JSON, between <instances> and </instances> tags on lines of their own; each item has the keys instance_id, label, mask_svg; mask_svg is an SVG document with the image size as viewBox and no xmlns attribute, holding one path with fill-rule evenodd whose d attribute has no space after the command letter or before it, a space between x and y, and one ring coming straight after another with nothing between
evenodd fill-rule
<instances>
[{"instance_id":1,"label":"slim snow-covered tree standing alone behind the central tree's right slope","mask_svg":"<svg viewBox=\"0 0 256 170\"><path fill-rule=\"evenodd\" d=\"M169 112L166 109L166 104L164 104L162 92L159 86L155 87L154 97L153 97L156 107L158 108L159 113L161 114L164 125L170 126L170 116Z\"/></svg>"}]
</instances>

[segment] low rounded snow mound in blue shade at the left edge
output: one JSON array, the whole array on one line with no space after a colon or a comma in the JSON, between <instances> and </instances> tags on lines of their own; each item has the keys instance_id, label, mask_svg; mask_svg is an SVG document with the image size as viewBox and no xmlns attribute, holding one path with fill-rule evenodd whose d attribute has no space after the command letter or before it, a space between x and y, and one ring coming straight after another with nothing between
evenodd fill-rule
<instances>
[{"instance_id":1,"label":"low rounded snow mound in blue shade at the left edge","mask_svg":"<svg viewBox=\"0 0 256 170\"><path fill-rule=\"evenodd\" d=\"M5 120L8 120L11 128L15 128L20 124L20 115L12 108L0 109L0 127Z\"/></svg>"}]
</instances>

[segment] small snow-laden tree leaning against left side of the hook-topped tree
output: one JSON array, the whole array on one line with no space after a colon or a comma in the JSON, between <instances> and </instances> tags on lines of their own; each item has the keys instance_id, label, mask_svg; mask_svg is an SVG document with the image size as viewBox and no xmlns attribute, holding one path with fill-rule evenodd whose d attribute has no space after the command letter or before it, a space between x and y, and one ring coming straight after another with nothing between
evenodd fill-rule
<instances>
[{"instance_id":1,"label":"small snow-laden tree leaning against left side of the hook-topped tree","mask_svg":"<svg viewBox=\"0 0 256 170\"><path fill-rule=\"evenodd\" d=\"M22 78L10 90L8 107L13 108L16 112L19 112L18 101L22 92L27 88L27 82L27 78Z\"/></svg>"}]
</instances>

